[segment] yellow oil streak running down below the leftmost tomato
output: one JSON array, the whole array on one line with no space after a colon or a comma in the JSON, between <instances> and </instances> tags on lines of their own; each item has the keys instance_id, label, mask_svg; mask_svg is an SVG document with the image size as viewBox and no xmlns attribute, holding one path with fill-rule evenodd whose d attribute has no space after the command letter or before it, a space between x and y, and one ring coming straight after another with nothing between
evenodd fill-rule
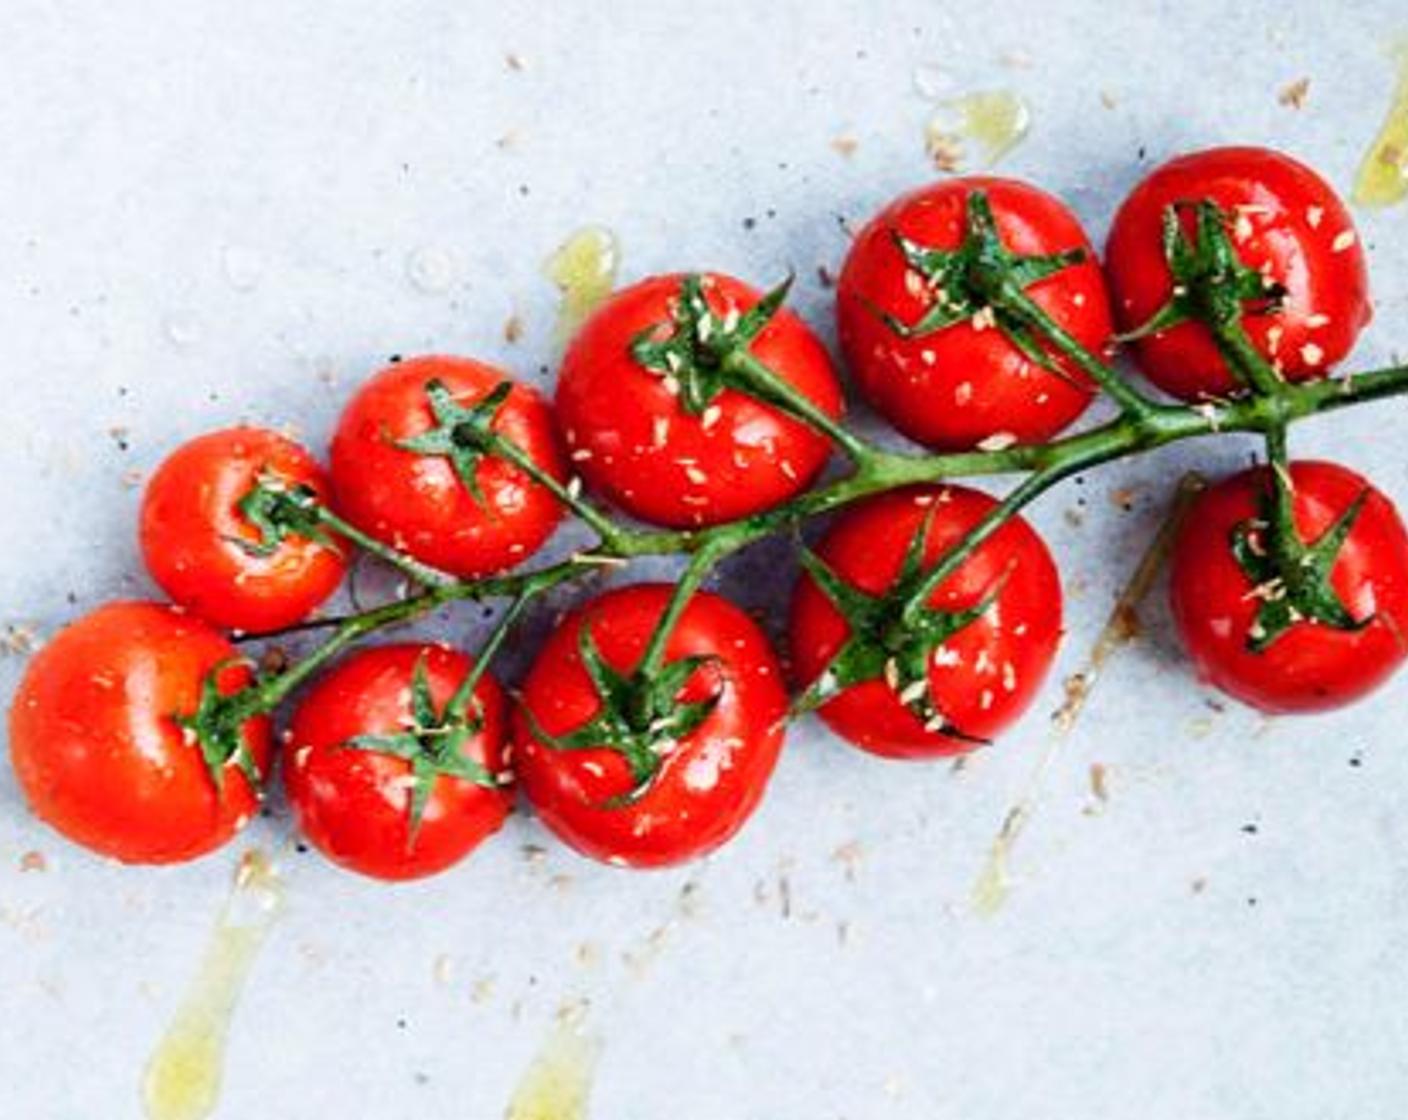
<instances>
[{"instance_id":1,"label":"yellow oil streak running down below the leftmost tomato","mask_svg":"<svg viewBox=\"0 0 1408 1120\"><path fill-rule=\"evenodd\" d=\"M263 852L245 852L200 971L146 1064L142 1103L149 1120L203 1120L215 1110L230 1021L282 911L283 881Z\"/></svg>"}]
</instances>

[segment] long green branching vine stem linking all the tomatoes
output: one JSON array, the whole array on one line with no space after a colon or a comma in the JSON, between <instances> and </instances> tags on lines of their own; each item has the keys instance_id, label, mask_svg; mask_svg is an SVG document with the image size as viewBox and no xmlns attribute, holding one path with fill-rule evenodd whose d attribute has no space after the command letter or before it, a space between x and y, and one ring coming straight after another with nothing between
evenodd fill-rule
<instances>
[{"instance_id":1,"label":"long green branching vine stem linking all the tomatoes","mask_svg":"<svg viewBox=\"0 0 1408 1120\"><path fill-rule=\"evenodd\" d=\"M694 394L718 392L719 386L727 383L776 404L828 435L852 461L853 469L849 475L808 490L773 510L728 524L698 530L645 528L618 521L583 499L576 482L570 485L559 482L524 449L494 433L490 428L491 416L466 413L469 418L455 424L451 433L458 447L498 456L524 471L582 517L597 534L598 542L560 564L538 571L482 580L456 580L425 568L384 542L366 537L307 493L276 494L282 497L282 504L270 499L270 504L259 507L262 513L273 510L272 528L259 523L266 534L327 527L413 576L421 585L421 590L404 600L345 618L290 628L334 627L331 635L289 671L279 676L260 678L239 693L215 696L208 704L203 704L201 711L187 718L189 726L194 727L203 741L218 735L228 738L238 733L244 720L272 711L331 658L377 630L410 621L458 600L510 599L510 607L491 631L470 676L470 680L477 683L511 627L539 595L598 572L603 566L622 565L636 556L681 555L689 558L687 565L666 611L648 640L634 679L660 675L665 648L680 614L708 573L734 552L776 533L796 528L810 518L901 486L942 483L970 476L1025 475L963 541L939 556L925 572L905 603L905 617L918 617L939 583L949 578L973 549L1060 480L1166 444L1224 433L1250 433L1266 440L1276 476L1271 540L1290 542L1277 545L1278 548L1309 552L1311 549L1300 541L1294 530L1286 452L1287 428L1311 416L1408 393L1408 365L1339 379L1286 382L1256 351L1242 325L1243 301L1274 301L1276 293L1267 293L1260 278L1256 279L1253 290L1246 269L1238 268L1238 262L1224 254L1226 247L1218 241L1221 218L1208 207L1202 207L1198 211L1201 241L1197 244L1190 242L1178 228L1174 228L1176 214L1166 223L1166 249L1180 255L1177 262L1170 256L1170 265L1177 265L1176 275L1183 270L1181 278L1186 283L1176 287L1170 304L1156 316L1156 320L1135 334L1163 330L1186 318L1200 320L1212 332L1225 361L1250 392L1231 400L1197 404L1160 403L1135 389L1112 365L1086 349L1025 293L1021 280L1033 263L1011 255L1004 258L1001 247L994 247L991 241L990 223L981 213L983 203L979 201L974 209L977 216L976 218L970 216L969 241L959 251L941 254L922 247L908 247L907 251L922 255L922 262L931 268L950 270L963 268L964 282L972 289L969 297L986 299L990 306L1004 313L1010 324L1015 324L1019 334L1025 332L1028 341L1041 340L1086 372L1119 406L1119 414L1114 420L1048 444L945 455L883 448L843 428L750 352L752 338L776 313L781 296L786 294L786 283L769 293L750 317L734 324L721 321L721 334L714 334L719 330L719 324L711 321L707 330L700 328L700 323L708 318L711 311L696 292L698 278L690 278L686 285L693 283L696 289L687 289L684 299L680 300L683 311L674 323L674 332L665 338L642 335L632 351L636 359L662 373L684 369L696 380L690 386ZM1036 263L1046 266L1043 262ZM696 294L691 296L691 292ZM897 330L912 328L900 324ZM248 500L255 502L256 493L252 492ZM265 499L269 496L265 494ZM472 687L469 683L470 690Z\"/></svg>"}]
</instances>

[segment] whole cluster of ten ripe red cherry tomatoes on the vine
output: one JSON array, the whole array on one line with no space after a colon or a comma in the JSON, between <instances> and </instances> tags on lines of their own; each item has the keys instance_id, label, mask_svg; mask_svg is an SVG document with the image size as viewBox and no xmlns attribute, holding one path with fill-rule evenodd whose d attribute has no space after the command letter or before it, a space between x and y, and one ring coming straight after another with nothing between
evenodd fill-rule
<instances>
[{"instance_id":1,"label":"whole cluster of ten ripe red cherry tomatoes on the vine","mask_svg":"<svg viewBox=\"0 0 1408 1120\"><path fill-rule=\"evenodd\" d=\"M984 303L979 221L1004 275L1073 347L1107 355L1117 324L1132 331L1164 314L1133 342L1149 380L1187 402L1236 394L1209 332L1177 314L1187 290L1170 254L1190 200L1218 207L1238 275L1253 278L1243 321L1259 352L1288 382L1324 376L1369 320L1353 224L1300 163L1219 149L1138 186L1104 268L1073 214L1032 186L950 179L897 199L856 237L838 283L856 389L907 437L946 452L1041 444L1090 404L1095 383L1070 347ZM1274 306L1257 300L1273 289ZM141 513L145 562L170 603L110 603L75 621L14 699L11 754L34 811L120 859L187 859L248 820L277 755L308 840L382 878L460 859L498 828L514 785L565 841L611 862L666 865L724 842L758 804L796 706L756 623L707 592L677 603L670 585L646 583L582 603L514 700L469 655L401 642L337 662L277 741L266 711L224 737L196 717L255 682L222 631L307 618L346 573L349 535L479 580L538 552L583 487L641 523L684 530L796 499L834 438L731 383L731 348L839 420L841 379L807 324L728 276L676 275L593 314L552 403L484 363L428 356L360 386L327 472L265 430L180 447ZM518 461L487 452L486 431ZM1307 552L1333 538L1319 590L1339 623L1286 607L1276 634L1264 631L1278 602L1255 571L1264 471L1200 499L1171 568L1176 620L1202 675L1273 710L1369 690L1404 658L1408 627L1408 538L1391 504L1340 466L1291 473ZM788 672L845 740L887 757L950 755L993 740L1031 702L1062 633L1060 579L1036 533L1005 520L924 590L926 571L994 504L962 486L894 489L848 506L805 554ZM300 520L298 509L335 518Z\"/></svg>"}]
</instances>

